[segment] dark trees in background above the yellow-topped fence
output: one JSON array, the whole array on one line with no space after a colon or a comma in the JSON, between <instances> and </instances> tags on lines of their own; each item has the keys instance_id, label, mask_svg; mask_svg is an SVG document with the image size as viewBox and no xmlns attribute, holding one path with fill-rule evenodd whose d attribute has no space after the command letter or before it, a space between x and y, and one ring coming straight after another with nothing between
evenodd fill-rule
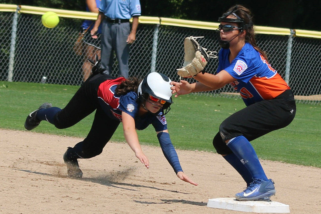
<instances>
[{"instance_id":1,"label":"dark trees in background above the yellow-topped fence","mask_svg":"<svg viewBox=\"0 0 321 214\"><path fill-rule=\"evenodd\" d=\"M169 17L217 22L234 4L243 4L254 14L256 25L321 31L320 0L140 0L143 16ZM85 11L84 0L0 0L2 4L23 4L65 10Z\"/></svg>"}]
</instances>

